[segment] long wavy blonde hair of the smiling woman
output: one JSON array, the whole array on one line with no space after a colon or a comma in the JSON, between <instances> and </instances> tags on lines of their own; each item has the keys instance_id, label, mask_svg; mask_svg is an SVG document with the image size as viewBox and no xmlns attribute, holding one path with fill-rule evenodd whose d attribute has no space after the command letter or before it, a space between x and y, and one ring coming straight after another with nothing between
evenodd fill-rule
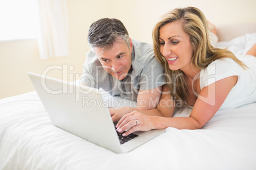
<instances>
[{"instance_id":1,"label":"long wavy blonde hair of the smiling woman","mask_svg":"<svg viewBox=\"0 0 256 170\"><path fill-rule=\"evenodd\" d=\"M208 22L203 12L195 7L176 8L162 15L153 28L153 49L157 60L164 66L168 88L176 103L176 107L187 106L188 98L185 75L181 70L171 70L166 58L160 52L159 29L167 23L180 21L183 30L190 37L194 55L191 64L197 69L205 69L211 62L220 58L232 58L244 69L246 66L227 49L213 48L208 33Z\"/></svg>"}]
</instances>

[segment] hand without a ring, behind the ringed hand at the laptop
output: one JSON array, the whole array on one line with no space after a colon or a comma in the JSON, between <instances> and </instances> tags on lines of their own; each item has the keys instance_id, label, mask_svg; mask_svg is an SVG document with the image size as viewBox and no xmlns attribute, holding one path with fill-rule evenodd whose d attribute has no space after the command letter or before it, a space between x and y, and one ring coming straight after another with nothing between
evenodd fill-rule
<instances>
[{"instance_id":1,"label":"hand without a ring, behind the ringed hand at the laptop","mask_svg":"<svg viewBox=\"0 0 256 170\"><path fill-rule=\"evenodd\" d=\"M108 108L110 110L110 115L113 122L119 121L123 115L132 112L135 108L132 107L118 107L118 108Z\"/></svg>"}]
</instances>

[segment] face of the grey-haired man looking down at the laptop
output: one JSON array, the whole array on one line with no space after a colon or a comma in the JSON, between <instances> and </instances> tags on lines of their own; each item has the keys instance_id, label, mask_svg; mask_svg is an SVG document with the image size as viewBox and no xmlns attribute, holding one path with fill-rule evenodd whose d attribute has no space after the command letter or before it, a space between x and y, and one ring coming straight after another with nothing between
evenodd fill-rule
<instances>
[{"instance_id":1,"label":"face of the grey-haired man looking down at the laptop","mask_svg":"<svg viewBox=\"0 0 256 170\"><path fill-rule=\"evenodd\" d=\"M122 80L131 69L132 41L130 47L122 41L115 42L110 49L94 48L94 51L103 65L104 70L113 75L115 79Z\"/></svg>"}]
</instances>

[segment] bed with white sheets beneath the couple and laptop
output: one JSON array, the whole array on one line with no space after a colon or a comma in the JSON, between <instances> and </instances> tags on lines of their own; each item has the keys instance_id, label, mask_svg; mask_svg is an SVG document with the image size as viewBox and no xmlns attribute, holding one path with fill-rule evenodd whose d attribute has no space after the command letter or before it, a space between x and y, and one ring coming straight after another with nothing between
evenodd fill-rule
<instances>
[{"instance_id":1,"label":"bed with white sheets beneath the couple and laptop","mask_svg":"<svg viewBox=\"0 0 256 170\"><path fill-rule=\"evenodd\" d=\"M256 42L256 24L243 26L218 26L217 45L244 53ZM248 170L256 169L255 160L256 103L219 110L202 129L167 128L136 150L115 154L53 126L36 91L0 100L0 169Z\"/></svg>"}]
</instances>

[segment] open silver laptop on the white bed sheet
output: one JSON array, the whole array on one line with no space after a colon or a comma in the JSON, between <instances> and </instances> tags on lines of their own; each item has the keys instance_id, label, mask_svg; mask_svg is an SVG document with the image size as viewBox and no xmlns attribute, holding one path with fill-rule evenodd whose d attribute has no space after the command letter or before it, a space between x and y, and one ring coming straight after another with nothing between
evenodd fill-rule
<instances>
[{"instance_id":1,"label":"open silver laptop on the white bed sheet","mask_svg":"<svg viewBox=\"0 0 256 170\"><path fill-rule=\"evenodd\" d=\"M138 131L128 141L120 141L99 90L31 72L28 75L54 126L112 152L131 152L166 131Z\"/></svg>"}]
</instances>

